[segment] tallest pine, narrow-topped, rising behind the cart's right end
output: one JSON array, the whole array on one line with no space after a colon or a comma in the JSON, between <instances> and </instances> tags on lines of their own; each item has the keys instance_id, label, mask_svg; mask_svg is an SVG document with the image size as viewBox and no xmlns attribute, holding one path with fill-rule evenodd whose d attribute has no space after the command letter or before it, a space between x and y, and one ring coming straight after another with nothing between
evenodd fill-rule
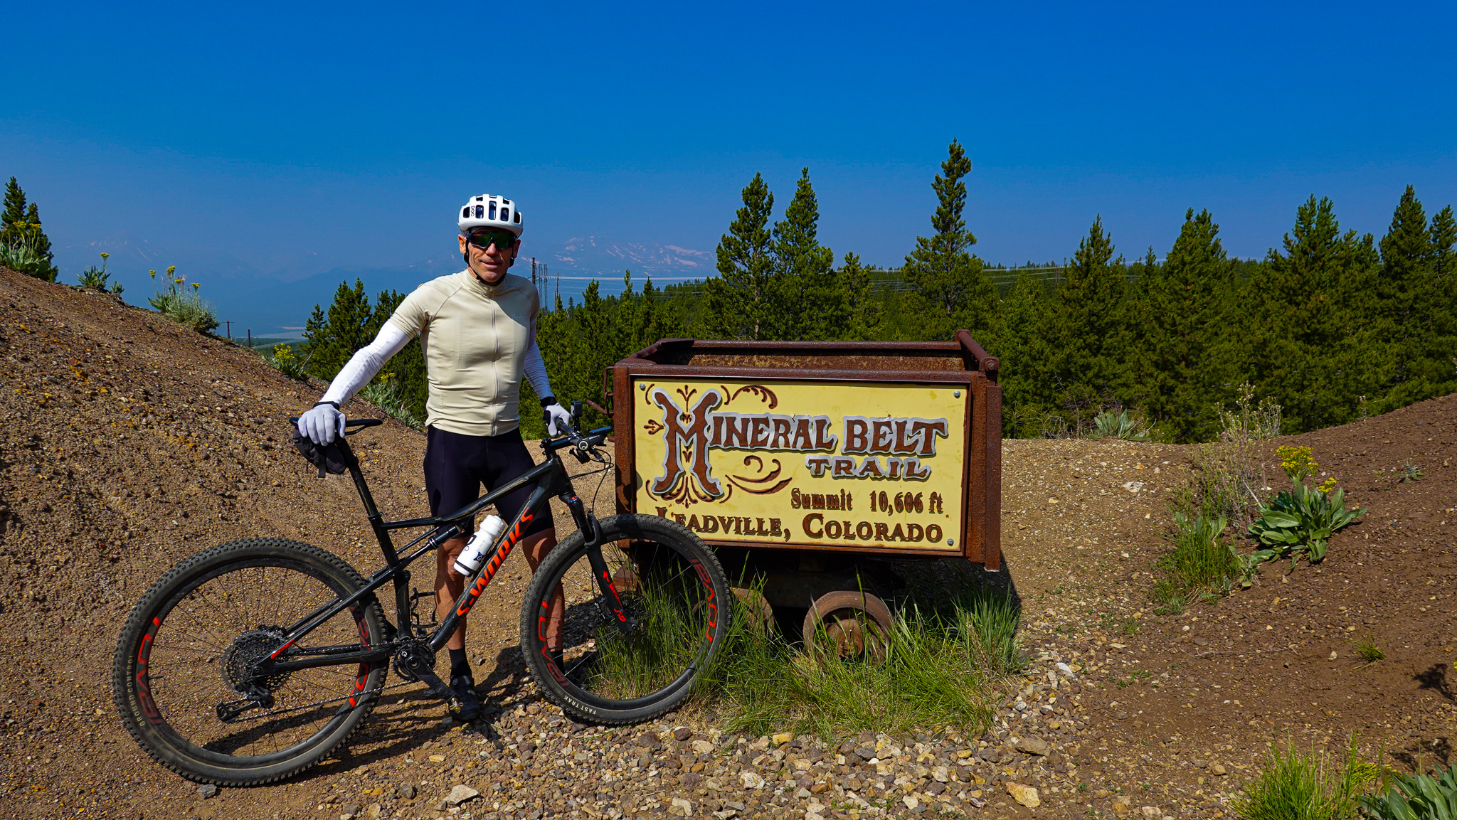
<instances>
[{"instance_id":1,"label":"tallest pine, narrow-topped, rising behind the cart's right end","mask_svg":"<svg viewBox=\"0 0 1457 820\"><path fill-rule=\"evenodd\" d=\"M960 328L975 335L991 325L997 291L982 271L982 261L970 253L976 236L966 230L962 218L966 207L963 178L970 172L972 160L962 144L951 140L941 173L931 182L937 198L931 217L935 232L916 237L916 248L902 268L924 310L922 336L946 339Z\"/></svg>"}]
</instances>

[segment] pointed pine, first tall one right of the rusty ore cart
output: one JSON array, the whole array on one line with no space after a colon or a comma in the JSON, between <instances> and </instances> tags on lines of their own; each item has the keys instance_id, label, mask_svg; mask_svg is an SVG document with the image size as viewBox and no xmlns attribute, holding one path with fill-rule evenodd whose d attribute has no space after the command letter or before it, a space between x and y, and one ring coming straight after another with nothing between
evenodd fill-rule
<instances>
[{"instance_id":1,"label":"pointed pine, first tall one right of the rusty ore cart","mask_svg":"<svg viewBox=\"0 0 1457 820\"><path fill-rule=\"evenodd\" d=\"M1123 310L1125 271L1123 259L1113 259L1113 240L1103 232L1100 216L1064 265L1055 300L1053 373L1064 385L1065 405L1090 405L1123 393L1131 342Z\"/></svg>"}]
</instances>

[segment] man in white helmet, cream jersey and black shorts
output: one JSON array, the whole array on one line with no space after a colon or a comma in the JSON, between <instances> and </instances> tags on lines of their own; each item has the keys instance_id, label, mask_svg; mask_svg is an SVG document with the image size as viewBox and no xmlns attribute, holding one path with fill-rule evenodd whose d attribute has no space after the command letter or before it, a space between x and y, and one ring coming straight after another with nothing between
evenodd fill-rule
<instances>
[{"instance_id":1,"label":"man in white helmet, cream jersey and black shorts","mask_svg":"<svg viewBox=\"0 0 1457 820\"><path fill-rule=\"evenodd\" d=\"M551 427L565 431L570 414L552 398L546 366L536 347L536 287L507 274L522 248L522 213L503 197L472 197L456 217L466 268L415 288L405 297L374 341L354 354L319 403L299 418L299 433L326 444L342 433L339 405L379 373L411 338L420 336L430 379L425 403L425 492L430 514L453 513L535 466L517 428L522 377L542 398ZM551 433L551 430L548 431ZM513 520L532 488L523 486L497 502ZM469 536L469 533L466 533ZM452 564L466 537L447 540L436 555L436 613L444 619L460 596L465 578ZM557 545L551 510L532 521L520 540L532 569ZM450 711L462 720L481 712L475 679L465 653L465 626L455 631L450 650Z\"/></svg>"}]
</instances>

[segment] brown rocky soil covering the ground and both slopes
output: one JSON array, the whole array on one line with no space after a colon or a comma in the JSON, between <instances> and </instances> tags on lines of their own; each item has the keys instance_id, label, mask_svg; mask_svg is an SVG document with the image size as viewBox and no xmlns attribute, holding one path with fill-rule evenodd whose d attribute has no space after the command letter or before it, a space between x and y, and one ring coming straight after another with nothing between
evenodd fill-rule
<instances>
[{"instance_id":1,"label":"brown rocky soil covering the ground and both slopes","mask_svg":"<svg viewBox=\"0 0 1457 820\"><path fill-rule=\"evenodd\" d=\"M379 562L353 488L288 447L284 419L319 389L114 297L0 271L0 816L1220 817L1272 738L1356 730L1405 766L1451 753L1457 396L1291 440L1371 511L1323 567L1268 565L1253 590L1179 616L1148 590L1192 452L1008 441L998 580L1023 604L1029 667L978 736L740 737L711 703L574 724L517 660L513 559L472 615L485 721L452 725L418 687L392 689L305 775L198 789L121 728L117 629L214 543L283 535ZM356 441L386 516L423 511L423 437L388 422ZM1399 482L1407 462L1423 475ZM1354 636L1387 660L1358 667Z\"/></svg>"}]
</instances>

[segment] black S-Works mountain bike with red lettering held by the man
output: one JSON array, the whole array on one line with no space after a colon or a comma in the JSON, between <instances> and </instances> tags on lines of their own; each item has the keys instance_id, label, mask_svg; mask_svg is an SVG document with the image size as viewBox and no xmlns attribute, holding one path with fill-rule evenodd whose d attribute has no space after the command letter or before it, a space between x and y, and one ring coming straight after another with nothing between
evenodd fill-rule
<instances>
[{"instance_id":1,"label":"black S-Works mountain bike with red lettering held by the man","mask_svg":"<svg viewBox=\"0 0 1457 820\"><path fill-rule=\"evenodd\" d=\"M717 556L686 527L641 514L597 520L586 510L561 452L612 469L599 450L610 427L583 434L580 414L574 402L573 430L543 440L546 460L520 478L449 516L396 521L374 507L345 440L382 421L347 422L338 454L385 567L364 578L325 549L280 537L223 543L173 567L136 604L117 644L112 690L131 737L188 779L261 785L342 746L386 689L390 666L402 679L395 686L423 682L449 698L436 653L552 495L577 530L542 561L522 600L520 645L532 679L584 722L638 722L682 702L714 663L734 597ZM411 594L407 568L523 485L535 485L526 505L450 613L423 623L414 600L433 596ZM390 532L424 527L395 548ZM389 583L395 622L374 596Z\"/></svg>"}]
</instances>

